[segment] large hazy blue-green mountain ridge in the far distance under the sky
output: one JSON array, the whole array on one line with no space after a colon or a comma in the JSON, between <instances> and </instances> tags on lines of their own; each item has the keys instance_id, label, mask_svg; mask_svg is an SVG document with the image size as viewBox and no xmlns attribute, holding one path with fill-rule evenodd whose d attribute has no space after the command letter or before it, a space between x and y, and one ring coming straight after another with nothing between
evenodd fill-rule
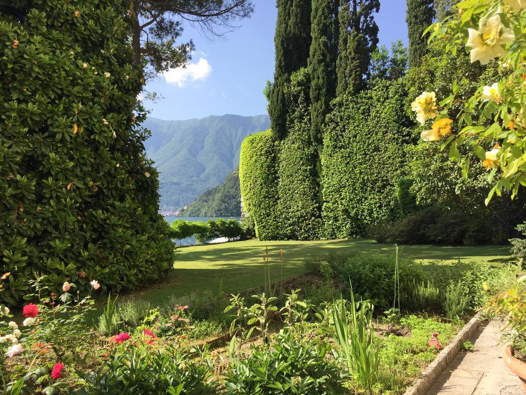
<instances>
[{"instance_id":1,"label":"large hazy blue-green mountain ridge in the far distance under the sky","mask_svg":"<svg viewBox=\"0 0 526 395\"><path fill-rule=\"evenodd\" d=\"M210 115L187 121L148 118L146 155L160 172L160 208L178 210L221 184L239 166L246 136L268 129L268 115Z\"/></svg>"}]
</instances>

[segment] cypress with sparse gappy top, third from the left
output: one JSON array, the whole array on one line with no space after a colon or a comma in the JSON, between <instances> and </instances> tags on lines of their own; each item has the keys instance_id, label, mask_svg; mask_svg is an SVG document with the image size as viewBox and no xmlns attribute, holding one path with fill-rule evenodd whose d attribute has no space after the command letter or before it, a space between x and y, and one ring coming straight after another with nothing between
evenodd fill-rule
<instances>
[{"instance_id":1,"label":"cypress with sparse gappy top, third from the left","mask_svg":"<svg viewBox=\"0 0 526 395\"><path fill-rule=\"evenodd\" d=\"M374 15L379 0L341 0L339 12L338 94L365 87L371 54L378 45Z\"/></svg>"}]
</instances>

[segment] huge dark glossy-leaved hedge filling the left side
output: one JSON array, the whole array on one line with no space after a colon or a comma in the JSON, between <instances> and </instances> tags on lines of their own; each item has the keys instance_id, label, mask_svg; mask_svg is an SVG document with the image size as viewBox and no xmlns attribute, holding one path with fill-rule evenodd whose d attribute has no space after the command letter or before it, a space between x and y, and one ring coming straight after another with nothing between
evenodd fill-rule
<instances>
[{"instance_id":1,"label":"huge dark glossy-leaved hedge filling the left side","mask_svg":"<svg viewBox=\"0 0 526 395\"><path fill-rule=\"evenodd\" d=\"M24 8L24 4L29 4ZM118 0L11 2L0 13L0 259L15 304L45 275L133 289L173 262Z\"/></svg>"}]
</instances>

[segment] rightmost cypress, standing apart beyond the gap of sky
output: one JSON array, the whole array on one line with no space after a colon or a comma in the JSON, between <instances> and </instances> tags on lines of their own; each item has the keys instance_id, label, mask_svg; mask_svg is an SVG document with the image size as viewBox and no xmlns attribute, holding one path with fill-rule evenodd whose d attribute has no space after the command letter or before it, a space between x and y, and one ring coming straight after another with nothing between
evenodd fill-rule
<instances>
[{"instance_id":1,"label":"rightmost cypress, standing apart beyond the gap of sky","mask_svg":"<svg viewBox=\"0 0 526 395\"><path fill-rule=\"evenodd\" d=\"M407 0L407 30L409 36L409 67L420 66L428 51L428 37L423 31L433 22L433 0Z\"/></svg>"}]
</instances>

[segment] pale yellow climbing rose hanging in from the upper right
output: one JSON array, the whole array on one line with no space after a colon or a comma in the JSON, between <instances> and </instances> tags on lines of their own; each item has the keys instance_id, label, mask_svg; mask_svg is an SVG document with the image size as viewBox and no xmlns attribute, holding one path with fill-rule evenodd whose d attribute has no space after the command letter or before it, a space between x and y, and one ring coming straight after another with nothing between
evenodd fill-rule
<instances>
[{"instance_id":1,"label":"pale yellow climbing rose hanging in from the upper right","mask_svg":"<svg viewBox=\"0 0 526 395\"><path fill-rule=\"evenodd\" d=\"M514 197L520 185L526 185L526 24L523 0L464 0L456 5L457 13L428 28L430 41L444 45L447 52L456 53L463 44L471 62L485 65L499 59L500 80L479 89L467 101L453 120L449 110L459 104L457 82L448 97L437 102L434 92L424 92L412 104L417 120L424 124L434 119L431 130L422 132L426 141L443 141L449 145L449 156L461 161L467 177L470 158L475 155L489 171L494 186L486 204L503 189ZM437 40L439 39L439 40ZM458 133L453 133L455 123ZM459 146L467 144L469 153L461 155Z\"/></svg>"}]
</instances>

